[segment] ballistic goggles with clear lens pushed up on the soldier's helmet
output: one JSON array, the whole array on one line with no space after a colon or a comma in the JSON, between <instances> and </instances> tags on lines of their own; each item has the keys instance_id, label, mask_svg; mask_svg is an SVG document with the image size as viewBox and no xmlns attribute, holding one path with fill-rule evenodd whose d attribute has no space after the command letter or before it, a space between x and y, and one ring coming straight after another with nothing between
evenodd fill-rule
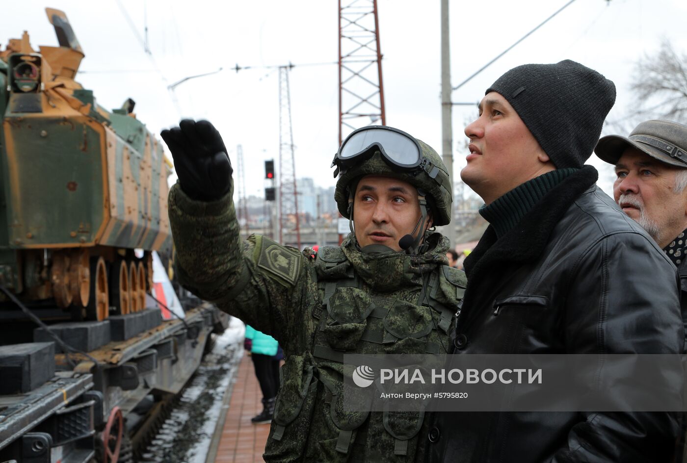
<instances>
[{"instance_id":1,"label":"ballistic goggles with clear lens pushed up on the soldier's helmet","mask_svg":"<svg viewBox=\"0 0 687 463\"><path fill-rule=\"evenodd\" d=\"M375 152L372 148L377 148L382 159L394 170L420 170L427 164L420 144L411 135L398 128L366 126L353 131L341 144L332 161L332 167L337 166L334 177L370 159ZM438 168L433 167L432 172L427 172L431 178L439 173Z\"/></svg>"}]
</instances>

